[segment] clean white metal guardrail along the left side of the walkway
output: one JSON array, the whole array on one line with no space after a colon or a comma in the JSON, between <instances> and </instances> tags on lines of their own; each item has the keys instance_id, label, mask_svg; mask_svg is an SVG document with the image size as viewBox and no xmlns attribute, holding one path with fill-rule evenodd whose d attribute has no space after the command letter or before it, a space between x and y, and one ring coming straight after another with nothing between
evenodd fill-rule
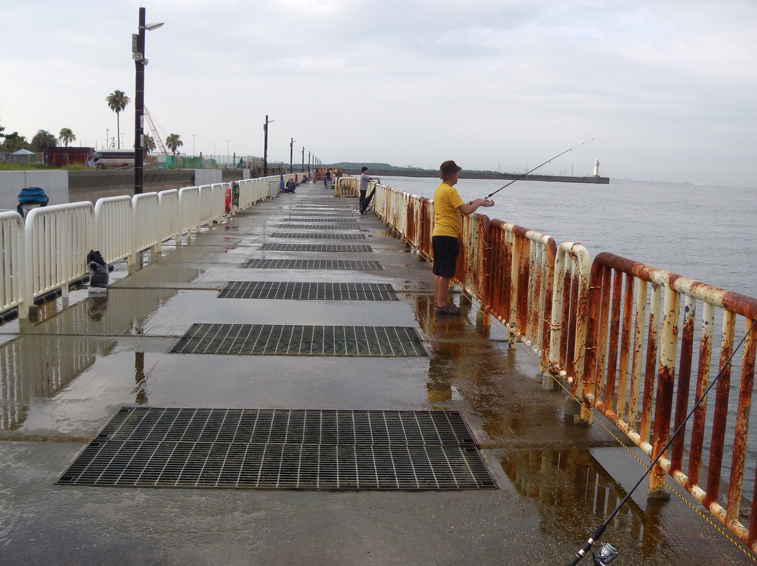
<instances>
[{"instance_id":1,"label":"clean white metal guardrail along the left side of the walkway","mask_svg":"<svg viewBox=\"0 0 757 566\"><path fill-rule=\"evenodd\" d=\"M294 178L284 175L284 182ZM100 250L107 263L136 261L149 248L160 251L171 238L181 243L203 225L221 222L236 210L276 196L282 177L241 179L185 187L133 197L99 199L34 208L26 215L0 213L0 315L18 309L29 316L37 297L61 291L88 274L89 250Z\"/></svg>"}]
</instances>

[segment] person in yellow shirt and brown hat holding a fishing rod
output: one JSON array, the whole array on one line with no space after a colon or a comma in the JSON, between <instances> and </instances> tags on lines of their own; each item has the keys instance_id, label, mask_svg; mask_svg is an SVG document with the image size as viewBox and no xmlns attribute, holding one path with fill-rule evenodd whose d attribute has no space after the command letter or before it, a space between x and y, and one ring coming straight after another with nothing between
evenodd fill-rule
<instances>
[{"instance_id":1,"label":"person in yellow shirt and brown hat holding a fishing rod","mask_svg":"<svg viewBox=\"0 0 757 566\"><path fill-rule=\"evenodd\" d=\"M460 309L453 303L447 303L450 279L455 276L455 264L460 244L460 215L475 213L478 207L490 206L484 198L476 198L464 203L455 190L457 176L462 167L454 161L445 161L439 167L441 185L434 191L434 231L431 233L431 245L434 248L434 288L436 291L436 313L438 315L458 316Z\"/></svg>"}]
</instances>

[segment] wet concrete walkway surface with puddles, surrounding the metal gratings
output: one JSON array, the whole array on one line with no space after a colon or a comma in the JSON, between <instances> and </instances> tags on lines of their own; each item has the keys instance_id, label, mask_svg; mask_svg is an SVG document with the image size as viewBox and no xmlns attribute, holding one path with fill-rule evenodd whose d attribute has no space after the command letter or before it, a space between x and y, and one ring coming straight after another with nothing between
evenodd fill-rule
<instances>
[{"instance_id":1,"label":"wet concrete walkway surface with puddles, surrounding the metal gratings","mask_svg":"<svg viewBox=\"0 0 757 566\"><path fill-rule=\"evenodd\" d=\"M492 327L437 317L428 265L357 217L372 253L261 250L319 185L205 228L106 296L74 290L30 321L0 325L2 564L566 564L643 473L599 424L572 425L532 353ZM285 196L285 198L284 198ZM356 200L334 199L334 210ZM346 205L345 205L346 202ZM328 205L320 205L325 207ZM312 211L312 208L307 210ZM329 210L322 208L319 210ZM349 208L347 208L349 210ZM316 221L313 221L316 222ZM298 230L298 232L303 232ZM331 232L331 231L329 231ZM353 231L345 231L353 232ZM321 240L284 242L313 243ZM378 260L378 271L244 269L267 258ZM391 283L397 301L219 299L228 281ZM428 356L168 353L195 322L419 328ZM64 487L55 481L123 405L449 409L463 413L499 490L308 492ZM678 497L643 486L603 540L614 564L749 561ZM590 561L584 558L584 564Z\"/></svg>"}]
</instances>

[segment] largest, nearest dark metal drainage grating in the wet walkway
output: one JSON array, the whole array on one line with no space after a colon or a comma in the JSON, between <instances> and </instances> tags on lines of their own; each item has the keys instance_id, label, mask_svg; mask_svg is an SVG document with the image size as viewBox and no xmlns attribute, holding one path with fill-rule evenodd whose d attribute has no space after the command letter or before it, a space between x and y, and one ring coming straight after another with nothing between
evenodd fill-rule
<instances>
[{"instance_id":1,"label":"largest, nearest dark metal drainage grating in the wet walkway","mask_svg":"<svg viewBox=\"0 0 757 566\"><path fill-rule=\"evenodd\" d=\"M453 411L122 407L59 485L496 490Z\"/></svg>"}]
</instances>

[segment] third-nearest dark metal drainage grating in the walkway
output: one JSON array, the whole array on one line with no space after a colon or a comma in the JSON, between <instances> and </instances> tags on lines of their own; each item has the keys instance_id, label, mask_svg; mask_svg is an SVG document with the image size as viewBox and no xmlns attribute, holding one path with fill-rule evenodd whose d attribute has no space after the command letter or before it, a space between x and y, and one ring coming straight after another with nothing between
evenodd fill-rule
<instances>
[{"instance_id":1,"label":"third-nearest dark metal drainage grating in the walkway","mask_svg":"<svg viewBox=\"0 0 757 566\"><path fill-rule=\"evenodd\" d=\"M229 281L220 299L400 300L388 283Z\"/></svg>"}]
</instances>

